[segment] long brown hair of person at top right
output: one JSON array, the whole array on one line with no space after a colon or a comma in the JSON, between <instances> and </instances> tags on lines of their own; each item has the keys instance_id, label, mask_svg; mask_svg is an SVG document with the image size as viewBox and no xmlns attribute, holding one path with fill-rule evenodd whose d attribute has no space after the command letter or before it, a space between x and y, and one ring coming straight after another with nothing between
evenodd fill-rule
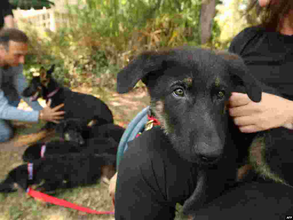
<instances>
[{"instance_id":1,"label":"long brown hair of person at top right","mask_svg":"<svg viewBox=\"0 0 293 220\"><path fill-rule=\"evenodd\" d=\"M276 0L270 0L276 1ZM246 9L248 23L266 28L268 31L278 31L280 20L293 9L293 0L277 0L274 4L260 7L258 0L250 0Z\"/></svg>"}]
</instances>

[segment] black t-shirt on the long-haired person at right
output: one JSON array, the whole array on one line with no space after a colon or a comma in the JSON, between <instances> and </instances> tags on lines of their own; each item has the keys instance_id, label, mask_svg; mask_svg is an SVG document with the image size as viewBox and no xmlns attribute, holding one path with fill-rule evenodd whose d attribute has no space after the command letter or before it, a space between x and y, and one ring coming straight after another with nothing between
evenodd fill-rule
<instances>
[{"instance_id":1,"label":"black t-shirt on the long-haired person at right","mask_svg":"<svg viewBox=\"0 0 293 220\"><path fill-rule=\"evenodd\" d=\"M244 59L256 79L293 100L293 35L250 27L236 35L229 51Z\"/></svg>"}]
</instances>

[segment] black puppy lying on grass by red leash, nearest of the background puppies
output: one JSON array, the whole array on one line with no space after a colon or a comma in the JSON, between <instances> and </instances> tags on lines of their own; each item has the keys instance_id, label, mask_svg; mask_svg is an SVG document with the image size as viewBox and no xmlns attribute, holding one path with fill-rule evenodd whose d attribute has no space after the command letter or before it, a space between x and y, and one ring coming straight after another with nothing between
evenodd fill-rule
<instances>
[{"instance_id":1,"label":"black puppy lying on grass by red leash, nearest of the background puppies","mask_svg":"<svg viewBox=\"0 0 293 220\"><path fill-rule=\"evenodd\" d=\"M40 184L37 190L50 192L57 188L72 188L96 183L101 177L110 179L116 170L115 155L73 153L50 155L33 163L20 165L1 182L1 192L13 192L14 183L22 189Z\"/></svg>"}]
</instances>

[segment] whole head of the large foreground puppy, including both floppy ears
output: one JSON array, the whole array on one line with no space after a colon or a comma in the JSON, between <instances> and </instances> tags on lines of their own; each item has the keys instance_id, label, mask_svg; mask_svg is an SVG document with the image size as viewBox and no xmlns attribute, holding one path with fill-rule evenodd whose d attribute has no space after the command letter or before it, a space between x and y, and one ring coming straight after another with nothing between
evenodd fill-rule
<instances>
[{"instance_id":1,"label":"whole head of the large foreground puppy, including both floppy ears","mask_svg":"<svg viewBox=\"0 0 293 220\"><path fill-rule=\"evenodd\" d=\"M261 97L239 57L198 48L142 54L118 73L118 92L129 91L139 79L147 85L151 110L174 149L196 163L214 163L222 156L233 89L241 85L253 101Z\"/></svg>"}]
</instances>

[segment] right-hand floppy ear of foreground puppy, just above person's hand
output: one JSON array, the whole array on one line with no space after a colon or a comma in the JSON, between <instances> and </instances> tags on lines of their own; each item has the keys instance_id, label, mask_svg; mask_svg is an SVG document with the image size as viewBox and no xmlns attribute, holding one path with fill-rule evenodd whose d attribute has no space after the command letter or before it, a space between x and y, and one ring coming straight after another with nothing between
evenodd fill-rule
<instances>
[{"instance_id":1,"label":"right-hand floppy ear of foreground puppy, just above person's hand","mask_svg":"<svg viewBox=\"0 0 293 220\"><path fill-rule=\"evenodd\" d=\"M254 102L260 102L262 88L260 82L253 77L243 59L236 54L218 52L219 55L229 62L231 67L231 78L236 86L242 85L248 97Z\"/></svg>"}]
</instances>

